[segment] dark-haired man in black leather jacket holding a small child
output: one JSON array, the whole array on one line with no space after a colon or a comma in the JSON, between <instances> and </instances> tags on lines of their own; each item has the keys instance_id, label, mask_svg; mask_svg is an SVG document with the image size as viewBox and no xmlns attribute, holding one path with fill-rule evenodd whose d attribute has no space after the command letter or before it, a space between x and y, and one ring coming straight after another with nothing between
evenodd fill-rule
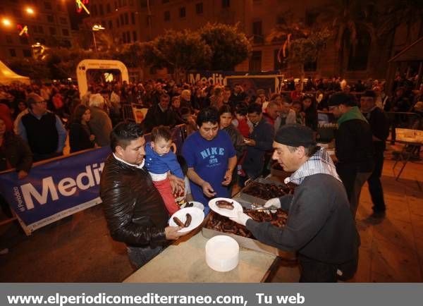
<instances>
[{"instance_id":1,"label":"dark-haired man in black leather jacket holding a small child","mask_svg":"<svg viewBox=\"0 0 423 306\"><path fill-rule=\"evenodd\" d=\"M110 140L113 153L106 159L100 182L104 215L111 237L128 246L130 262L140 268L161 252L166 240L186 233L167 226L164 202L144 169L145 139L140 126L119 123ZM168 178L174 190L184 184L175 176Z\"/></svg>"}]
</instances>

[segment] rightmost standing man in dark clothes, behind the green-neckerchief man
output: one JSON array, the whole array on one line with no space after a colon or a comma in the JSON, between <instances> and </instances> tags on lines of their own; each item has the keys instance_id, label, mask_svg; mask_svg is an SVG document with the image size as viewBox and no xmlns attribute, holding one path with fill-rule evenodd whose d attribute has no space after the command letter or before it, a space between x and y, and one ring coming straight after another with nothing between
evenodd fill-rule
<instances>
[{"instance_id":1,"label":"rightmost standing man in dark clothes, behind the green-neckerchief man","mask_svg":"<svg viewBox=\"0 0 423 306\"><path fill-rule=\"evenodd\" d=\"M381 175L384 168L384 151L386 138L389 134L389 121L384 111L376 106L376 92L373 90L364 92L360 98L360 107L364 117L369 121L370 128L372 128L374 171L367 183L369 184L369 192L373 202L372 216L380 217L384 216L386 210Z\"/></svg>"}]
</instances>

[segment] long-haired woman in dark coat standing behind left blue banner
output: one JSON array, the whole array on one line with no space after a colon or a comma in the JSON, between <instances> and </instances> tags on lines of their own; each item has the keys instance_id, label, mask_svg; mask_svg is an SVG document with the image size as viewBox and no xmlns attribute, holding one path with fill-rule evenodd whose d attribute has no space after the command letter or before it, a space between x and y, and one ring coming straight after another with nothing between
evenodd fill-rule
<instances>
[{"instance_id":1,"label":"long-haired woman in dark coat standing behind left blue banner","mask_svg":"<svg viewBox=\"0 0 423 306\"><path fill-rule=\"evenodd\" d=\"M83 149L91 149L95 146L95 136L92 135L88 121L91 118L91 111L87 106L80 104L73 111L73 119L69 127L69 145L71 153Z\"/></svg>"}]
</instances>

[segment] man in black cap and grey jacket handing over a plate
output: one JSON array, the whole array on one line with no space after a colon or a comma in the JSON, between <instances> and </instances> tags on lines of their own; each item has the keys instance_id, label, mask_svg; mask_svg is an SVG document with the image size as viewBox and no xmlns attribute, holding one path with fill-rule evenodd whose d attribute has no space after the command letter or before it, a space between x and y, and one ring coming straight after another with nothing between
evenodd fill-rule
<instances>
[{"instance_id":1,"label":"man in black cap and grey jacket handing over a plate","mask_svg":"<svg viewBox=\"0 0 423 306\"><path fill-rule=\"evenodd\" d=\"M262 243L298 252L300 282L336 282L341 275L349 279L357 269L360 237L331 157L316 146L312 129L299 124L278 130L273 147L272 158L293 172L286 183L298 185L293 195L264 204L286 210L286 226L257 222L243 212L231 219Z\"/></svg>"}]
</instances>

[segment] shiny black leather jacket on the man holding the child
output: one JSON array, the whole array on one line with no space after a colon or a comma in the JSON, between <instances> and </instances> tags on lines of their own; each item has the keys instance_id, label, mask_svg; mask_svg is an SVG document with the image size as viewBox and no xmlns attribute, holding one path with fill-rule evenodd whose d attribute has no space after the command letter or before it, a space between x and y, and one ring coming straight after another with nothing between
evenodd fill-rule
<instances>
[{"instance_id":1,"label":"shiny black leather jacket on the man holding the child","mask_svg":"<svg viewBox=\"0 0 423 306\"><path fill-rule=\"evenodd\" d=\"M130 246L156 247L166 241L168 212L145 169L107 157L100 197L111 238Z\"/></svg>"}]
</instances>

